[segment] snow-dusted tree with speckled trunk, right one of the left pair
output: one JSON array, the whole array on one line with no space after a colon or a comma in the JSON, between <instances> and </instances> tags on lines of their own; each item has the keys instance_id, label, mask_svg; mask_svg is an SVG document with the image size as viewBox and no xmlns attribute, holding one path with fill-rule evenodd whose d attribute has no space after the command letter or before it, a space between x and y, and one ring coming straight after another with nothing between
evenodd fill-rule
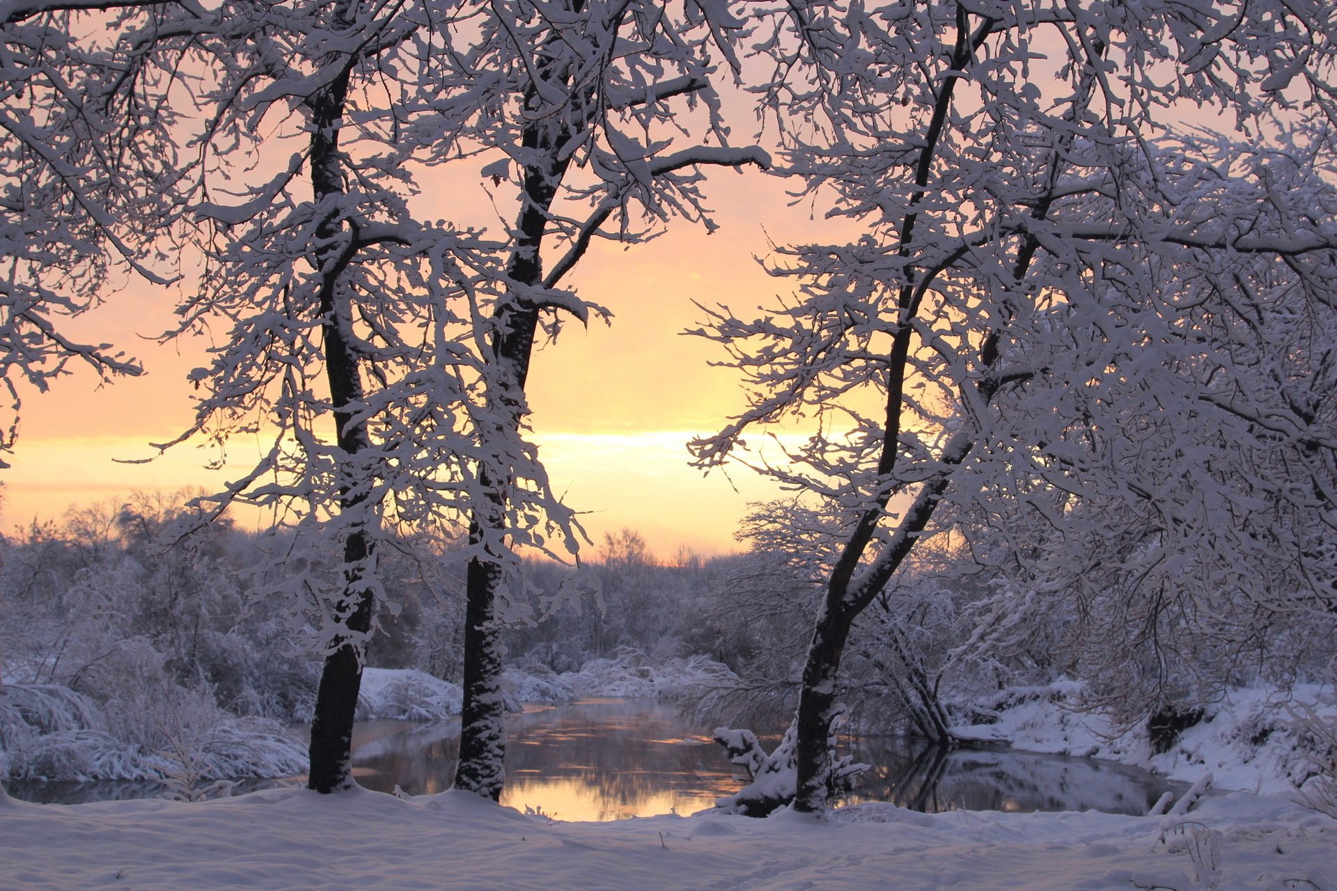
<instances>
[{"instance_id":1,"label":"snow-dusted tree with speckled trunk, right one of the left pair","mask_svg":"<svg viewBox=\"0 0 1337 891\"><path fill-rule=\"evenodd\" d=\"M489 7L492 8L492 7ZM524 387L535 338L555 334L555 313L584 321L590 305L556 286L594 238L640 240L673 216L711 226L702 204L701 167L766 166L757 148L730 148L711 76L743 21L722 7L558 0L521 4L483 27L469 68L508 77L508 92L484 104L480 143L507 158L485 172L520 187L505 294L493 307L487 394L493 418L484 441L504 443L527 414ZM693 115L703 118L691 124ZM572 171L572 166L582 170ZM639 207L640 220L630 214ZM580 210L576 210L580 208ZM610 218L615 232L600 227ZM554 250L555 248L555 250ZM544 271L545 254L552 266ZM507 509L513 472L485 472L472 504L465 616L464 716L456 787L499 797L505 732L496 601L516 584ZM575 550L574 544L572 553ZM508 578L511 576L511 578Z\"/></svg>"}]
</instances>

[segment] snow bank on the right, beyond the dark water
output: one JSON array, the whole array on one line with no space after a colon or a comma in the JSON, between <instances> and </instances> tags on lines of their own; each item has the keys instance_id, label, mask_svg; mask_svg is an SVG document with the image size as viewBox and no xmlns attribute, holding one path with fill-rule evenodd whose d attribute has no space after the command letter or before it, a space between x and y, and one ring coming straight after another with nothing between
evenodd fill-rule
<instances>
[{"instance_id":1,"label":"snow bank on the right, beyond the dark water","mask_svg":"<svg viewBox=\"0 0 1337 891\"><path fill-rule=\"evenodd\" d=\"M1009 691L993 709L996 723L953 727L952 732L964 740L1007 743L1028 752L1108 759L1186 783L1210 772L1218 789L1281 793L1314 776L1318 744L1296 727L1288 705L1305 703L1337 721L1337 707L1324 704L1324 692L1314 684L1298 685L1289 695L1230 691L1159 753L1144 725L1119 732L1108 716L1078 711L1082 687L1074 681Z\"/></svg>"}]
</instances>

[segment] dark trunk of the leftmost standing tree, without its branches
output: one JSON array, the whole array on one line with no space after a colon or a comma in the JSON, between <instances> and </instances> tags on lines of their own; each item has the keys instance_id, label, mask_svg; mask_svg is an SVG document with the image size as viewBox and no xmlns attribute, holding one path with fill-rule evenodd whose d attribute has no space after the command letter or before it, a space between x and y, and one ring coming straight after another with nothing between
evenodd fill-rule
<instances>
[{"instance_id":1,"label":"dark trunk of the leftmost standing tree, without its branches","mask_svg":"<svg viewBox=\"0 0 1337 891\"><path fill-rule=\"evenodd\" d=\"M336 28L346 28L352 19L349 0L333 11ZM344 191L344 164L338 151L337 122L344 116L352 57L337 57L329 64L342 65L338 76L309 100L312 110L312 191L317 204ZM325 374L334 409L336 435L342 453L340 473L340 513L353 516L365 494L360 489L357 456L368 445L366 427L354 419L353 406L362 401L358 355L352 341L352 306L342 283L354 246L342 220L326 218L317 226L321 246L316 262L321 275L320 313L325 338ZM361 643L372 627L372 590L364 578L364 566L372 556L364 521L358 518L344 541L344 594L337 612L348 635L332 641L325 657L321 683L312 717L310 772L306 787L317 792L334 792L353 784L352 739L353 712L362 684Z\"/></svg>"}]
</instances>

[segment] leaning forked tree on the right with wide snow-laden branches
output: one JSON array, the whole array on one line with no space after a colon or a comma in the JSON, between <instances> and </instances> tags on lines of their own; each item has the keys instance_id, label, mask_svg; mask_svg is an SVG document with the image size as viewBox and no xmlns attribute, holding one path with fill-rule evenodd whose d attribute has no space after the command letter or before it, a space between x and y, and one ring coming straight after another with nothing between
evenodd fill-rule
<instances>
[{"instance_id":1,"label":"leaning forked tree on the right with wide snow-laden branches","mask_svg":"<svg viewBox=\"0 0 1337 891\"><path fill-rule=\"evenodd\" d=\"M1191 631L1171 605L1330 627L1334 37L1321 4L790 5L766 100L864 234L782 248L797 291L763 317L711 311L753 398L695 449L817 426L770 468L840 516L798 810L825 806L850 628L940 505L1011 521L984 636L1095 553L1118 584L1083 581L1150 606L1127 628L1154 653ZM1166 126L1194 112L1237 130Z\"/></svg>"}]
</instances>

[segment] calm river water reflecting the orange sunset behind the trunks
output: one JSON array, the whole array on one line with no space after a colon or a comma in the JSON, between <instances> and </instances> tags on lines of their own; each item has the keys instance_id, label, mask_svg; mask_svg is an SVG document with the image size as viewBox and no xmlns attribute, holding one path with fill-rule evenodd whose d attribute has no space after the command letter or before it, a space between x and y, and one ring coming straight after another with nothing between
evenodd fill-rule
<instances>
[{"instance_id":1,"label":"calm river water reflecting the orange sunset behind the trunks","mask_svg":"<svg viewBox=\"0 0 1337 891\"><path fill-rule=\"evenodd\" d=\"M691 814L738 791L741 769L723 749L654 700L591 700L535 707L507 724L501 803L560 820L616 820ZM353 732L353 772L365 788L410 795L449 788L459 721L365 721ZM765 740L774 744L774 739ZM1183 784L1135 768L1008 749L956 749L901 737L856 740L856 760L874 767L842 803L894 801L917 811L1084 811L1146 814ZM238 791L271 785L246 780ZM33 801L76 803L160 795L154 783L11 783Z\"/></svg>"}]
</instances>

